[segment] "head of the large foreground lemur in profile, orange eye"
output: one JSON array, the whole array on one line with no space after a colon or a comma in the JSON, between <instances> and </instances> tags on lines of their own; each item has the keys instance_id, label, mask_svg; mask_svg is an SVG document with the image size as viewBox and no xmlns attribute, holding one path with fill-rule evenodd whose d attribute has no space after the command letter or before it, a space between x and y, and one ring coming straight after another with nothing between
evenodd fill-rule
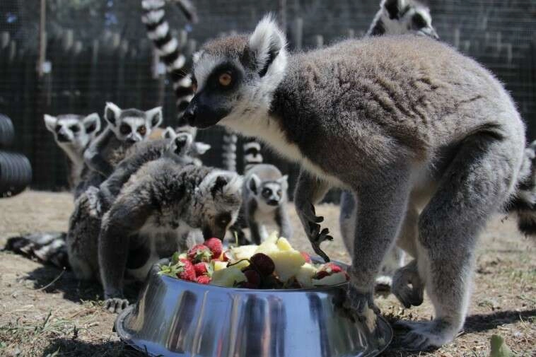
<instances>
[{"instance_id":1,"label":"head of the large foreground lemur in profile, orange eye","mask_svg":"<svg viewBox=\"0 0 536 357\"><path fill-rule=\"evenodd\" d=\"M257 110L267 112L272 93L285 75L285 47L285 36L272 16L260 21L250 36L208 42L194 55L196 93L185 119L194 127L206 128L223 118L231 121L253 117Z\"/></svg>"}]
</instances>

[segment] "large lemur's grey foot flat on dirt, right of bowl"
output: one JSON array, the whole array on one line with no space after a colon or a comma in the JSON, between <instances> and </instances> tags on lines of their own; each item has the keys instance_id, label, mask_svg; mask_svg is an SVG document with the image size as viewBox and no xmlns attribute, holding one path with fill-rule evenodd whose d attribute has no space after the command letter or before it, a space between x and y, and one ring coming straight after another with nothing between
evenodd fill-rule
<instances>
[{"instance_id":1,"label":"large lemur's grey foot flat on dirt, right of bowl","mask_svg":"<svg viewBox=\"0 0 536 357\"><path fill-rule=\"evenodd\" d=\"M452 324L443 320L431 322L398 321L397 329L409 329L400 341L400 348L407 351L429 351L453 341L456 331Z\"/></svg>"}]
</instances>

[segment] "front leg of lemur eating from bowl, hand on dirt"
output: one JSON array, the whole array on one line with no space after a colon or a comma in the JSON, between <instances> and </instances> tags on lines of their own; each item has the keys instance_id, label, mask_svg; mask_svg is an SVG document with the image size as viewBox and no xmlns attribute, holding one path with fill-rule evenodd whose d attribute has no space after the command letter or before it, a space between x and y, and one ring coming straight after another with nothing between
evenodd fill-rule
<instances>
[{"instance_id":1,"label":"front leg of lemur eating from bowl, hand on dirt","mask_svg":"<svg viewBox=\"0 0 536 357\"><path fill-rule=\"evenodd\" d=\"M111 312L121 311L128 305L123 298L123 281L130 240L144 226L150 211L151 206L132 190L118 198L103 217L98 238L98 262L105 308Z\"/></svg>"}]
</instances>

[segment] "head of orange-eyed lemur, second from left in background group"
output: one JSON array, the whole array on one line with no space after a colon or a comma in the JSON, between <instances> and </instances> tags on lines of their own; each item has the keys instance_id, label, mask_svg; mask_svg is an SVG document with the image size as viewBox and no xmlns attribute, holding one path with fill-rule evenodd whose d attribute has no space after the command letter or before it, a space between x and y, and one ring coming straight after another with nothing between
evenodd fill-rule
<instances>
[{"instance_id":1,"label":"head of orange-eyed lemur, second from left in background group","mask_svg":"<svg viewBox=\"0 0 536 357\"><path fill-rule=\"evenodd\" d=\"M143 112L137 109L120 109L114 103L106 103L104 118L117 139L135 143L151 135L153 128L162 122L162 107Z\"/></svg>"}]
</instances>

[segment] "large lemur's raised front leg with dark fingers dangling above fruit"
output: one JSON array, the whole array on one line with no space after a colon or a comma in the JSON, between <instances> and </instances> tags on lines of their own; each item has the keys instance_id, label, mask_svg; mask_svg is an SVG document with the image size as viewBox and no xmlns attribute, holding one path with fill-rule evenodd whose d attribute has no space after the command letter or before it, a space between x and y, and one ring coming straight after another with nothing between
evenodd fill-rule
<instances>
[{"instance_id":1,"label":"large lemur's raised front leg with dark fingers dangling above fruit","mask_svg":"<svg viewBox=\"0 0 536 357\"><path fill-rule=\"evenodd\" d=\"M329 262L330 258L320 249L320 243L324 240L333 240L333 237L329 235L330 230L327 228L320 230L321 227L318 223L324 221L324 217L316 215L314 205L324 198L328 189L330 189L330 185L327 182L310 175L305 170L301 170L296 185L296 192L294 192L296 212L298 213L303 229L305 229L305 234L309 238L313 250L325 262Z\"/></svg>"}]
</instances>

